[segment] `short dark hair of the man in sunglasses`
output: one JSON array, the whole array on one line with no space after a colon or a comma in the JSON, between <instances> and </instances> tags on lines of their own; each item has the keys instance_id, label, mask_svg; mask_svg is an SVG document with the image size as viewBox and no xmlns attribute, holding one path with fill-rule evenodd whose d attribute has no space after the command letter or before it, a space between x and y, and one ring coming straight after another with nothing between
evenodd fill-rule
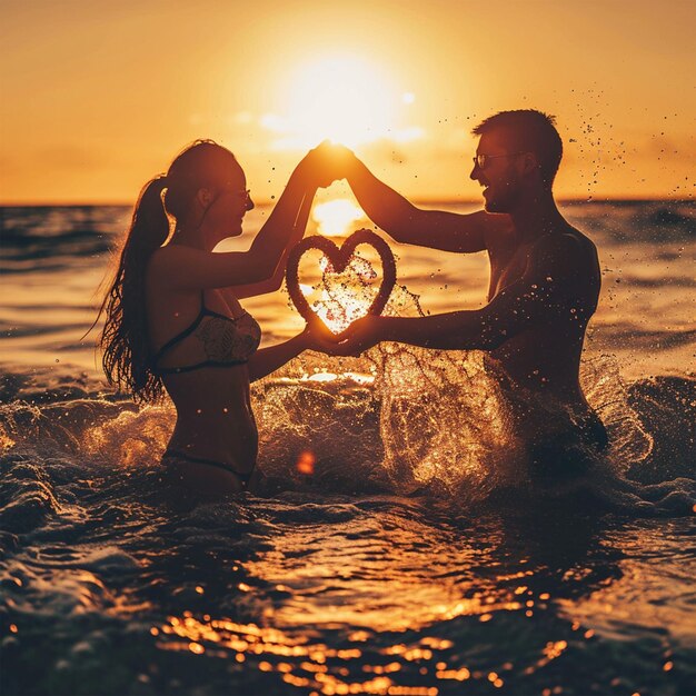
<instances>
[{"instance_id":1,"label":"short dark hair of the man in sunglasses","mask_svg":"<svg viewBox=\"0 0 696 696\"><path fill-rule=\"evenodd\" d=\"M536 153L541 181L550 188L563 157L556 118L536 109L499 111L481 121L471 132L483 136L498 129L506 132L517 151Z\"/></svg>"}]
</instances>

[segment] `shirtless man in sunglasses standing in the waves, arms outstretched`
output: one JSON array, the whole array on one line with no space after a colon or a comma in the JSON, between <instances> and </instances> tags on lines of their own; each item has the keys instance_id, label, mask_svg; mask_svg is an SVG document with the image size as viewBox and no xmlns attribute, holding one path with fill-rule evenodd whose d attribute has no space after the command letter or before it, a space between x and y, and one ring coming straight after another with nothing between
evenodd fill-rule
<instances>
[{"instance_id":1,"label":"shirtless man in sunglasses standing in the waves, arms outstretched","mask_svg":"<svg viewBox=\"0 0 696 696\"><path fill-rule=\"evenodd\" d=\"M564 219L554 200L563 155L554 118L527 109L503 111L474 133L480 139L470 177L484 187L485 210L471 215L416 208L349 150L341 157L360 206L395 240L460 253L486 250L488 304L428 317L368 316L326 350L355 355L379 341L485 350L510 396L524 391L545 405L535 416L515 397L513 410L533 459L557 459L570 440L603 448L606 432L579 384L585 329L599 296L599 264L594 243ZM546 417L549 406L563 415L555 425Z\"/></svg>"}]
</instances>

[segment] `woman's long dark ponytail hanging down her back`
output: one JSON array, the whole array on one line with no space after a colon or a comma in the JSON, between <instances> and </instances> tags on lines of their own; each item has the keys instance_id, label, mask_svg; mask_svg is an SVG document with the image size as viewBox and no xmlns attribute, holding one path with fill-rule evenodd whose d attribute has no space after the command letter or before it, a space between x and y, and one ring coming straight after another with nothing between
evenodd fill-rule
<instances>
[{"instance_id":1,"label":"woman's long dark ponytail hanging down her back","mask_svg":"<svg viewBox=\"0 0 696 696\"><path fill-rule=\"evenodd\" d=\"M111 286L99 309L106 312L99 339L109 385L136 401L157 401L163 392L155 374L149 341L146 271L152 253L188 213L199 189L222 181L235 156L212 140L197 140L171 162L166 175L148 181L133 209ZM163 193L163 196L162 196Z\"/></svg>"}]
</instances>

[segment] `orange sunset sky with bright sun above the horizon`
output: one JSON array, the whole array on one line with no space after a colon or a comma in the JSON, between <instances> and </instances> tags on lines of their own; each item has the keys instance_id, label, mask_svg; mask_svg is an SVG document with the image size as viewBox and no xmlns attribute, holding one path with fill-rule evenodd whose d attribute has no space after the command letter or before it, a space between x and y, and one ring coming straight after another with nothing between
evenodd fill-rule
<instances>
[{"instance_id":1,"label":"orange sunset sky with bright sun above the horizon","mask_svg":"<svg viewBox=\"0 0 696 696\"><path fill-rule=\"evenodd\" d=\"M196 138L258 200L307 148L480 199L469 131L556 115L560 197L692 198L693 0L0 0L0 201L131 202Z\"/></svg>"}]
</instances>

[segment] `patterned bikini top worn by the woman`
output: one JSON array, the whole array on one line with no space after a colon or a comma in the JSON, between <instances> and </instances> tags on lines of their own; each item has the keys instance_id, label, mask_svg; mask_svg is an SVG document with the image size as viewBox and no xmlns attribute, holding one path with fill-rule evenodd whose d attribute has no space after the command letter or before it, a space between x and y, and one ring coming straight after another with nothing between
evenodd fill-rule
<instances>
[{"instance_id":1,"label":"patterned bikini top worn by the woman","mask_svg":"<svg viewBox=\"0 0 696 696\"><path fill-rule=\"evenodd\" d=\"M190 340L190 347L183 354L191 360L202 359L180 367L159 367L162 357L191 335L197 340ZM201 292L198 317L157 351L151 359L151 369L156 375L178 375L203 367L243 365L256 352L260 340L261 327L249 312L232 318L212 311L206 307Z\"/></svg>"}]
</instances>

